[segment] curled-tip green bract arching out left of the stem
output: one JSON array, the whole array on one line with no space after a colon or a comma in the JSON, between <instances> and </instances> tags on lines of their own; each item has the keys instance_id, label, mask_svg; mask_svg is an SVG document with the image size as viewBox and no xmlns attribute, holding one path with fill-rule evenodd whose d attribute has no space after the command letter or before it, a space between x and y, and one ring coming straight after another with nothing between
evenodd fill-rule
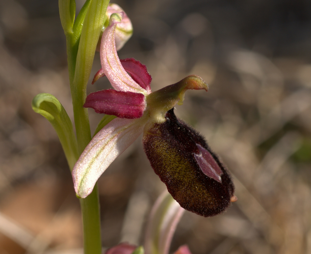
<instances>
[{"instance_id":1,"label":"curled-tip green bract arching out left of the stem","mask_svg":"<svg viewBox=\"0 0 311 254\"><path fill-rule=\"evenodd\" d=\"M63 105L51 94L40 93L32 100L32 109L44 116L54 127L62 144L67 162L72 170L78 154L77 139L73 132L72 122Z\"/></svg>"}]
</instances>

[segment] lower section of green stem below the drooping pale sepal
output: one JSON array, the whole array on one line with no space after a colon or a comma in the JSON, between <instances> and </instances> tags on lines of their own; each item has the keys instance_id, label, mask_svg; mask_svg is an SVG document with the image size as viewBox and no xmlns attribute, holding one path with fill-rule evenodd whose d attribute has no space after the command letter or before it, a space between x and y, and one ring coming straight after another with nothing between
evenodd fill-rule
<instances>
[{"instance_id":1,"label":"lower section of green stem below the drooping pale sepal","mask_svg":"<svg viewBox=\"0 0 311 254\"><path fill-rule=\"evenodd\" d=\"M95 185L92 193L86 198L80 199L83 235L84 235L84 253L101 253L100 236L100 206L98 202L98 186Z\"/></svg>"}]
</instances>

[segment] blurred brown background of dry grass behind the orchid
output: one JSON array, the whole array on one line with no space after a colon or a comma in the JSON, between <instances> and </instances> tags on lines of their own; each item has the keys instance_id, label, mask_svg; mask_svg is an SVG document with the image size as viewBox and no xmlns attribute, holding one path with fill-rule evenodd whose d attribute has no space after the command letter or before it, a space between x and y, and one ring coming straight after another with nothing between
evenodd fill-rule
<instances>
[{"instance_id":1,"label":"blurred brown background of dry grass behind the orchid","mask_svg":"<svg viewBox=\"0 0 311 254\"><path fill-rule=\"evenodd\" d=\"M81 8L84 1L77 1ZM186 212L171 252L311 253L310 1L117 1L134 34L119 52L147 65L151 88L200 75L176 114L208 140L232 173L238 201L202 218ZM57 0L0 0L0 253L82 253L81 214L40 92L72 118ZM95 55L93 74L100 68ZM93 75L92 74L92 75ZM91 76L92 76L91 75ZM89 91L108 87L104 80ZM89 110L92 130L99 115ZM104 247L142 243L165 188L141 140L99 180Z\"/></svg>"}]
</instances>

